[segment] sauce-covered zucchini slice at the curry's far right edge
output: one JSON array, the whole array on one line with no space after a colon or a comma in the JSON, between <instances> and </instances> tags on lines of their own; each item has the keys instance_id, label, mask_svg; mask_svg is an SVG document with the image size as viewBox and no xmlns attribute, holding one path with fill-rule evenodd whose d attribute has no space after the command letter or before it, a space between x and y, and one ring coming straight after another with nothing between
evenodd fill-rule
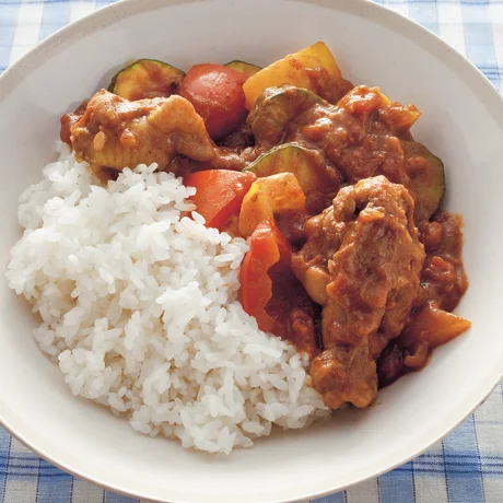
<instances>
[{"instance_id":1,"label":"sauce-covered zucchini slice at the curry's far right edge","mask_svg":"<svg viewBox=\"0 0 503 503\"><path fill-rule=\"evenodd\" d=\"M417 141L402 140L401 148L414 192L416 222L429 220L438 209L445 194L444 164Z\"/></svg>"}]
</instances>

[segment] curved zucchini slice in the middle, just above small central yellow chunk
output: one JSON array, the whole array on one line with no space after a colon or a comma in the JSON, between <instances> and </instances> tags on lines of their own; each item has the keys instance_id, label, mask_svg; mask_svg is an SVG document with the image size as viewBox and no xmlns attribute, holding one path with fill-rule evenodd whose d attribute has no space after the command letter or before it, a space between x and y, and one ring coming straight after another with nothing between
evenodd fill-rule
<instances>
[{"instance_id":1,"label":"curved zucchini slice in the middle, just above small central yellow chunk","mask_svg":"<svg viewBox=\"0 0 503 503\"><path fill-rule=\"evenodd\" d=\"M339 174L325 155L299 143L274 147L243 171L258 177L293 173L304 191L309 213L318 213L330 206L340 186Z\"/></svg>"}]
</instances>

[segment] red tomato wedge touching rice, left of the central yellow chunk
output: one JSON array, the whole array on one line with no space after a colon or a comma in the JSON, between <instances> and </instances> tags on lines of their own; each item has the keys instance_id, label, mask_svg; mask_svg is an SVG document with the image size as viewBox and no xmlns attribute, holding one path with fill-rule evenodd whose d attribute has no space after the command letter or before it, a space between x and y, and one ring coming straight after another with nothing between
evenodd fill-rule
<instances>
[{"instance_id":1,"label":"red tomato wedge touching rice, left of the central yellow chunk","mask_svg":"<svg viewBox=\"0 0 503 503\"><path fill-rule=\"evenodd\" d=\"M223 231L229 220L239 213L243 198L256 179L253 173L208 169L187 175L184 185L196 187L190 201L204 218L206 226Z\"/></svg>"}]
</instances>

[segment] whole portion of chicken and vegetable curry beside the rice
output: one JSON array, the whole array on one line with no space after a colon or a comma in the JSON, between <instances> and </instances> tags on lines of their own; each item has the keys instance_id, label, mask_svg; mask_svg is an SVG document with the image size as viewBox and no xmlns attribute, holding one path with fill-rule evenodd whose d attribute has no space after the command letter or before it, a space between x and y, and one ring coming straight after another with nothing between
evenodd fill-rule
<instances>
[{"instance_id":1,"label":"whole portion of chicken and vegetable curry beside the rice","mask_svg":"<svg viewBox=\"0 0 503 503\"><path fill-rule=\"evenodd\" d=\"M244 309L306 355L328 407L363 408L470 327L451 313L463 219L440 210L419 118L317 43L264 69L140 59L61 118L61 139L106 179L156 163L196 187L206 225L249 242Z\"/></svg>"}]
</instances>

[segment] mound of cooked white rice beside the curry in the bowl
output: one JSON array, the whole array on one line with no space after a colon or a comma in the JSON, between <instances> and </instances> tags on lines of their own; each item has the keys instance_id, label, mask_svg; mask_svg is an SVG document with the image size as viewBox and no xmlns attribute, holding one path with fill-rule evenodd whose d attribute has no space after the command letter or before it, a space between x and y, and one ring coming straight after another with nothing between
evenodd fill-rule
<instances>
[{"instance_id":1,"label":"mound of cooked white rice beside the curry in the bowl","mask_svg":"<svg viewBox=\"0 0 503 503\"><path fill-rule=\"evenodd\" d=\"M194 188L140 165L106 189L59 150L21 197L7 277L73 395L210 453L329 414L299 353L237 301L246 242L186 217Z\"/></svg>"}]
</instances>

